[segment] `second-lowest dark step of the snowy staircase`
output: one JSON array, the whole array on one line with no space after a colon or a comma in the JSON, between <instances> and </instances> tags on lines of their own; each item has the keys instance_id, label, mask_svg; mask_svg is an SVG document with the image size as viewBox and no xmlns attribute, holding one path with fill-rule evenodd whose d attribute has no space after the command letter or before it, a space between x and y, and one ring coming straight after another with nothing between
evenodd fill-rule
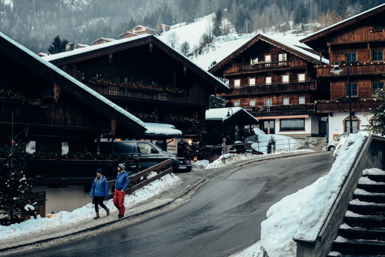
<instances>
[{"instance_id":1,"label":"second-lowest dark step of the snowy staircase","mask_svg":"<svg viewBox=\"0 0 385 257\"><path fill-rule=\"evenodd\" d=\"M385 241L385 228L340 228L338 235L346 239L366 239Z\"/></svg>"}]
</instances>

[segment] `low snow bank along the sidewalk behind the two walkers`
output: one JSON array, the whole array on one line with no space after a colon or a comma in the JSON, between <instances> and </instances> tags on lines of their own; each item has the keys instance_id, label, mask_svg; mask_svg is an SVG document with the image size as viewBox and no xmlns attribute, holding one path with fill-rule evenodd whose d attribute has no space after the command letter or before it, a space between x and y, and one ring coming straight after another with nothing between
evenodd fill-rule
<instances>
[{"instance_id":1,"label":"low snow bank along the sidewalk behind the two walkers","mask_svg":"<svg viewBox=\"0 0 385 257\"><path fill-rule=\"evenodd\" d=\"M154 172L156 174L156 172ZM150 183L149 185L139 189L132 195L126 195L124 197L124 206L130 208L132 205L141 203L150 197L161 193L165 189L169 188L172 184L179 181L180 178L175 176L173 173L167 174L158 180ZM107 208L111 211L111 214L117 214L117 209L114 206L113 200L104 202ZM101 212L105 212L103 209ZM10 240L14 237L34 232L42 231L46 229L57 229L61 226L74 226L77 223L93 220L95 215L94 205L89 203L79 209L72 212L60 212L55 214L56 217L42 218L40 215L36 219L31 218L19 224L12 224L10 226L0 226L0 240Z\"/></svg>"}]
</instances>

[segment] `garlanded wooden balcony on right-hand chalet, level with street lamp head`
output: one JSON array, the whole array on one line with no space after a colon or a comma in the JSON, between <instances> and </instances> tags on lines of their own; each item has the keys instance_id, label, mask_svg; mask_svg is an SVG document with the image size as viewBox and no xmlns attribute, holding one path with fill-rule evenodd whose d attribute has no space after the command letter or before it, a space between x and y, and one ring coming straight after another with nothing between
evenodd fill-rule
<instances>
[{"instance_id":1,"label":"garlanded wooden balcony on right-hand chalet, level with street lamp head","mask_svg":"<svg viewBox=\"0 0 385 257\"><path fill-rule=\"evenodd\" d=\"M340 65L343 72L339 75L335 75L330 71L333 69L333 65L319 65L316 66L317 77L337 77L347 76L346 64ZM359 63L350 66L350 76L354 75L377 75L385 73L385 62L367 62Z\"/></svg>"}]
</instances>

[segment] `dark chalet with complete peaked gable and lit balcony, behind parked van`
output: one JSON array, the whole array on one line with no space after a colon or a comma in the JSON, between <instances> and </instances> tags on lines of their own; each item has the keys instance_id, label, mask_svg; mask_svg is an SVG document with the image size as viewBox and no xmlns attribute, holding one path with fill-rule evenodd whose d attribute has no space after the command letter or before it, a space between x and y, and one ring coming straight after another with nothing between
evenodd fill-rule
<instances>
[{"instance_id":1,"label":"dark chalet with complete peaked gable and lit balcony, behind parked van","mask_svg":"<svg viewBox=\"0 0 385 257\"><path fill-rule=\"evenodd\" d=\"M152 35L75 49L44 57L143 122L175 126L189 137L202 126L209 95L229 87ZM196 117L196 118L195 118ZM143 134L138 139L169 139Z\"/></svg>"}]
</instances>

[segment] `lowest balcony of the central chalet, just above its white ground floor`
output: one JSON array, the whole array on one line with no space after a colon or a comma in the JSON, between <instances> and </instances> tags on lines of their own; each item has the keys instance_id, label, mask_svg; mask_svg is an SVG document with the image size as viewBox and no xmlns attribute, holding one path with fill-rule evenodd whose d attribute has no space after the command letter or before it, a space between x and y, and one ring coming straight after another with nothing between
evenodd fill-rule
<instances>
[{"instance_id":1,"label":"lowest balcony of the central chalet, just above its white ground floor","mask_svg":"<svg viewBox=\"0 0 385 257\"><path fill-rule=\"evenodd\" d=\"M315 113L315 104L285 104L242 107L253 116L299 115Z\"/></svg>"}]
</instances>

